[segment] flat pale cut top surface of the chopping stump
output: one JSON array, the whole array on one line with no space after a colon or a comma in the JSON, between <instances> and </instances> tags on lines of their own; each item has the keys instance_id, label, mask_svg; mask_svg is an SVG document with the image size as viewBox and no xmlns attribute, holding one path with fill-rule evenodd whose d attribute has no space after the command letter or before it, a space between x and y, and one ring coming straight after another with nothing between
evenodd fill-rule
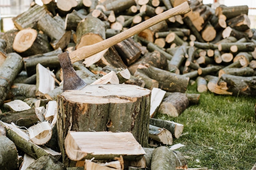
<instances>
[{"instance_id":1,"label":"flat pale cut top surface of the chopping stump","mask_svg":"<svg viewBox=\"0 0 256 170\"><path fill-rule=\"evenodd\" d=\"M61 94L66 100L80 103L135 102L148 96L151 90L137 85L87 85L81 90L67 90Z\"/></svg>"}]
</instances>

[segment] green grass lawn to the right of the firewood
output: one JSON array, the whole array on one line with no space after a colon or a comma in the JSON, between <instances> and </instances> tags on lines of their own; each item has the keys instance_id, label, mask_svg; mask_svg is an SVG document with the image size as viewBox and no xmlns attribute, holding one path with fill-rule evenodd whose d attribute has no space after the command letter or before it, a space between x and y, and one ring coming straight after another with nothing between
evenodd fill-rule
<instances>
[{"instance_id":1,"label":"green grass lawn to the right of the firewood","mask_svg":"<svg viewBox=\"0 0 256 170\"><path fill-rule=\"evenodd\" d=\"M187 93L198 93L196 85ZM179 117L157 118L184 124L183 135L173 144L187 156L189 168L251 170L256 163L255 97L202 93Z\"/></svg>"}]
</instances>

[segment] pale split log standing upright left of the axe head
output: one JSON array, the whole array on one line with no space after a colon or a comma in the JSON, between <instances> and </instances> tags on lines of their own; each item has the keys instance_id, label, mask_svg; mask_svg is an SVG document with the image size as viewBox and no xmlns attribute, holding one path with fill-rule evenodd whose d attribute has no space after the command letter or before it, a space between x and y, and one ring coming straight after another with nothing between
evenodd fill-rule
<instances>
[{"instance_id":1,"label":"pale split log standing upright left of the axe head","mask_svg":"<svg viewBox=\"0 0 256 170\"><path fill-rule=\"evenodd\" d=\"M41 64L36 65L36 96L44 94L55 88L55 75Z\"/></svg>"}]
</instances>

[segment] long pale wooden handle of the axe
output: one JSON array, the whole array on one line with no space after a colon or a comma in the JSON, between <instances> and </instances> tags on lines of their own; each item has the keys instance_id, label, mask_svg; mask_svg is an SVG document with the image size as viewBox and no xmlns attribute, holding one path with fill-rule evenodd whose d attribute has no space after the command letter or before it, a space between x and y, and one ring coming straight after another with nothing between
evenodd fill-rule
<instances>
[{"instance_id":1,"label":"long pale wooden handle of the axe","mask_svg":"<svg viewBox=\"0 0 256 170\"><path fill-rule=\"evenodd\" d=\"M150 19L144 22L141 22L140 24L137 24L127 29L126 31L123 31L117 35L114 35L113 37L100 41L96 44L92 44L90 46L83 46L77 50L70 52L68 55L72 63L82 59L86 59L94 54L97 54L98 52L101 52L102 50L105 50L111 46L114 46L115 44L137 33L140 33L141 31L149 28L150 26L153 26L161 21L167 20L168 18L173 17L175 15L182 15L182 14L188 13L189 11L190 11L190 8L189 8L188 2L184 2L177 7L174 7L163 13L155 15L154 17L151 17Z\"/></svg>"}]
</instances>

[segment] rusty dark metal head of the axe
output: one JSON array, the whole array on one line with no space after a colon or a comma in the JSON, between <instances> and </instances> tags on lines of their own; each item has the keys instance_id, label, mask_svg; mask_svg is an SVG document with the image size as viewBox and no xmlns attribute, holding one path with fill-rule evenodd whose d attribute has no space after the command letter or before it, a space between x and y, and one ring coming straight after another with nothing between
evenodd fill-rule
<instances>
[{"instance_id":1,"label":"rusty dark metal head of the axe","mask_svg":"<svg viewBox=\"0 0 256 170\"><path fill-rule=\"evenodd\" d=\"M65 90L79 90L86 86L86 83L76 74L68 52L58 54L58 60L63 72L63 92Z\"/></svg>"}]
</instances>

